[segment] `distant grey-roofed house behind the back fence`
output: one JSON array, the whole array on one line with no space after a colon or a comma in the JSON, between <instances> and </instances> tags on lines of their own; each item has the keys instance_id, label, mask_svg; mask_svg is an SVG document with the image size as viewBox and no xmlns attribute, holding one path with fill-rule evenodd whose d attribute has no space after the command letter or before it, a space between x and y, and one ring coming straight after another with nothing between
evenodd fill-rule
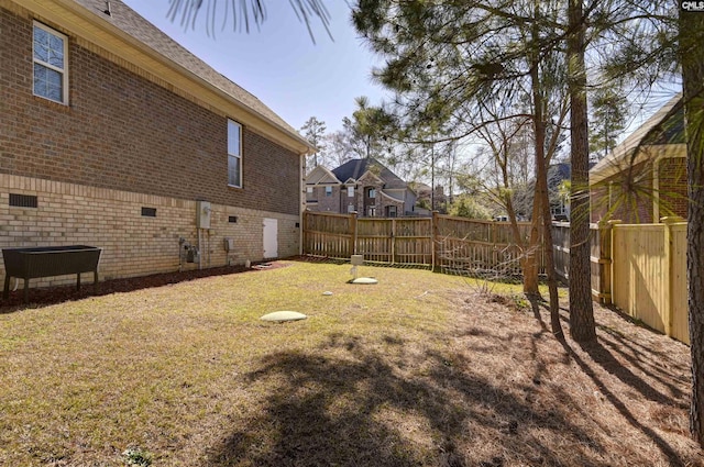
<instances>
[{"instance_id":1,"label":"distant grey-roofed house behind the back fence","mask_svg":"<svg viewBox=\"0 0 704 467\"><path fill-rule=\"evenodd\" d=\"M352 159L336 169L318 166L306 177L310 211L367 218L415 215L416 193L374 158Z\"/></svg>"}]
</instances>

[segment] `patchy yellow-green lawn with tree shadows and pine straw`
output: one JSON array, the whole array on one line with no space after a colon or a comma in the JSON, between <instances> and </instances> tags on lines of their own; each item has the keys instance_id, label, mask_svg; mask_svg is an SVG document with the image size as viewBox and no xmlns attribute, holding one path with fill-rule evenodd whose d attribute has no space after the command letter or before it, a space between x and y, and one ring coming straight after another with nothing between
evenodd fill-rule
<instances>
[{"instance_id":1,"label":"patchy yellow-green lawn with tree shadows and pine straw","mask_svg":"<svg viewBox=\"0 0 704 467\"><path fill-rule=\"evenodd\" d=\"M563 346L517 287L283 264L0 314L0 465L703 465L680 343L597 307Z\"/></svg>"}]
</instances>

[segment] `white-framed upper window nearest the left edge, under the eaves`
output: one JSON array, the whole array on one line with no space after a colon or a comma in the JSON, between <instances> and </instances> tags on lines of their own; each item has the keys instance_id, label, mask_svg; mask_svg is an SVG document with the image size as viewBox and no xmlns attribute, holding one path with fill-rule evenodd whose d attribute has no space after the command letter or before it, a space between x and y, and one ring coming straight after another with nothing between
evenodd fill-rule
<instances>
[{"instance_id":1,"label":"white-framed upper window nearest the left edge, under the eaves","mask_svg":"<svg viewBox=\"0 0 704 467\"><path fill-rule=\"evenodd\" d=\"M68 103L68 37L34 23L34 94Z\"/></svg>"}]
</instances>

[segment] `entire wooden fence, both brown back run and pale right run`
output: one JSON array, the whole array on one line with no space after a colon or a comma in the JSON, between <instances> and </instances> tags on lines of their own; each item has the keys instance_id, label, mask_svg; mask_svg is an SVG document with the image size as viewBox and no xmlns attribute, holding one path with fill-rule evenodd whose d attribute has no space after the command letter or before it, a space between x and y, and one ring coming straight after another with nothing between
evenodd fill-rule
<instances>
[{"instance_id":1,"label":"entire wooden fence, both brown back run and pale right run","mask_svg":"<svg viewBox=\"0 0 704 467\"><path fill-rule=\"evenodd\" d=\"M530 223L520 222L528 238ZM686 222L664 218L660 224L592 224L592 294L678 341L689 343ZM304 253L369 262L420 265L446 271L520 274L521 252L508 222L452 218L358 218L356 214L306 212ZM552 229L558 275L570 278L570 224ZM526 242L527 243L527 242ZM543 255L537 255L544 273Z\"/></svg>"}]
</instances>

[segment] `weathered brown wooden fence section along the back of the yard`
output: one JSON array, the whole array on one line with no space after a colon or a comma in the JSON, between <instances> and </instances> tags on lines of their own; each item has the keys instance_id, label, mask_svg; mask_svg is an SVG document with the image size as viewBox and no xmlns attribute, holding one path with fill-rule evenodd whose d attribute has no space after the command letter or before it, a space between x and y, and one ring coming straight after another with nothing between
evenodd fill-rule
<instances>
[{"instance_id":1,"label":"weathered brown wooden fence section along the back of the yard","mask_svg":"<svg viewBox=\"0 0 704 467\"><path fill-rule=\"evenodd\" d=\"M530 223L519 223L529 235ZM476 221L435 213L432 218L358 218L307 211L304 254L369 262L428 266L444 270L520 274L524 254L507 222ZM542 255L540 270L542 267Z\"/></svg>"}]
</instances>

